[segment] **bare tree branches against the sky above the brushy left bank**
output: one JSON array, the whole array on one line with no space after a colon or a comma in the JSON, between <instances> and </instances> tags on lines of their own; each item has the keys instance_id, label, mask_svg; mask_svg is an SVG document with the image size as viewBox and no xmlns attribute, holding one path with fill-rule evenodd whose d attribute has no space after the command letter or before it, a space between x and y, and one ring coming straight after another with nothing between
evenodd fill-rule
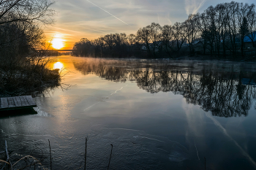
<instances>
[{"instance_id":1,"label":"bare tree branches against the sky above the brushy left bank","mask_svg":"<svg viewBox=\"0 0 256 170\"><path fill-rule=\"evenodd\" d=\"M23 46L26 45L30 49L42 47L44 35L40 26L53 23L51 17L55 15L55 11L50 9L51 4L53 4L53 1L48 0L1 0L0 50L4 50L11 44L14 45L15 42L20 42L21 39L26 41ZM9 32L13 28L16 31ZM20 34L17 34L17 31ZM7 53L7 50L1 53Z\"/></svg>"}]
</instances>

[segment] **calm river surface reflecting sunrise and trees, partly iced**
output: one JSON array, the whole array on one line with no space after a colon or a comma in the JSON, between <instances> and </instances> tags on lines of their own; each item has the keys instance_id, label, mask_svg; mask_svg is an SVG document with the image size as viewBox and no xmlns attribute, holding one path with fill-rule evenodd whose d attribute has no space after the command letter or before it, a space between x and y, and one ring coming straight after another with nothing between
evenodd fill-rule
<instances>
[{"instance_id":1,"label":"calm river surface reflecting sunrise and trees, partly iced","mask_svg":"<svg viewBox=\"0 0 256 170\"><path fill-rule=\"evenodd\" d=\"M256 169L255 63L52 59L62 85L34 93L37 115L0 119L12 155L50 139L53 169L83 169L88 136L87 169L110 144L110 169Z\"/></svg>"}]
</instances>

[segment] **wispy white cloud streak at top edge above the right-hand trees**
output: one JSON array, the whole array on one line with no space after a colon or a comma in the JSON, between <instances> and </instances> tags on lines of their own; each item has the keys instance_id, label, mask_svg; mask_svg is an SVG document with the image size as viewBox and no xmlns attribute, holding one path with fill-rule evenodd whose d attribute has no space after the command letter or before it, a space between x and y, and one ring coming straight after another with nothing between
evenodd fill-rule
<instances>
[{"instance_id":1,"label":"wispy white cloud streak at top edge above the right-hand trees","mask_svg":"<svg viewBox=\"0 0 256 170\"><path fill-rule=\"evenodd\" d=\"M206 0L185 0L185 9L187 15L196 14L205 2Z\"/></svg>"}]
</instances>

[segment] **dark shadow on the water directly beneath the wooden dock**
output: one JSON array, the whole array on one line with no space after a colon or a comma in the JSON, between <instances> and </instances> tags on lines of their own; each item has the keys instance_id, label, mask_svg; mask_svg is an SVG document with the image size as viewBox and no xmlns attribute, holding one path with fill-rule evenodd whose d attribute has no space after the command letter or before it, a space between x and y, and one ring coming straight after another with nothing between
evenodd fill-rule
<instances>
[{"instance_id":1,"label":"dark shadow on the water directly beneath the wooden dock","mask_svg":"<svg viewBox=\"0 0 256 170\"><path fill-rule=\"evenodd\" d=\"M37 115L37 112L33 108L5 110L0 112L0 119L24 115Z\"/></svg>"}]
</instances>

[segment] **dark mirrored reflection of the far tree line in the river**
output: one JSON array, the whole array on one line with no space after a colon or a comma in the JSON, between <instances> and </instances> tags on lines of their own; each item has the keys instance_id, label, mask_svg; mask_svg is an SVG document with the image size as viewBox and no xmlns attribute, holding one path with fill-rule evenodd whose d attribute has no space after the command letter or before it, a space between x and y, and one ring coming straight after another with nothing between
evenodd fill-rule
<instances>
[{"instance_id":1,"label":"dark mirrored reflection of the far tree line in the river","mask_svg":"<svg viewBox=\"0 0 256 170\"><path fill-rule=\"evenodd\" d=\"M83 63L74 62L74 66L83 74L96 74L105 80L135 81L149 93L172 91L184 96L188 104L198 104L219 117L247 116L256 98L255 70L243 64L234 69L211 64L86 58Z\"/></svg>"}]
</instances>

